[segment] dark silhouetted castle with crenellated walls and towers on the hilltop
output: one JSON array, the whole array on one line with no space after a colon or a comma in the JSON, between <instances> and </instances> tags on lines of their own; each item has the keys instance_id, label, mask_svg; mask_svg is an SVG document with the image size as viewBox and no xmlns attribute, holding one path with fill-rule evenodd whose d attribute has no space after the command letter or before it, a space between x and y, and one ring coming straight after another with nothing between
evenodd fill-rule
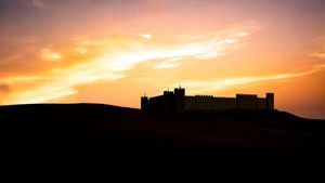
<instances>
[{"instance_id":1,"label":"dark silhouetted castle with crenellated walls and towers on the hilltop","mask_svg":"<svg viewBox=\"0 0 325 183\"><path fill-rule=\"evenodd\" d=\"M186 110L225 110L225 109L274 109L274 93L265 97L257 94L236 94L236 97L212 95L185 95L185 89L165 91L162 95L141 97L144 112L182 113Z\"/></svg>"}]
</instances>

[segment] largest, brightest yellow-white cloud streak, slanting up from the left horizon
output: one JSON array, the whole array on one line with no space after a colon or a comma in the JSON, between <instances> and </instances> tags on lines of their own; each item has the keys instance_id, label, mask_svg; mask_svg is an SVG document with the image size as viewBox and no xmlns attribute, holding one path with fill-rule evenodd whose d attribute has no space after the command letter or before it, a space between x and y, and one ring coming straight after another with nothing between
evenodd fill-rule
<instances>
[{"instance_id":1,"label":"largest, brightest yellow-white cloud streak, slanting up from the left horizon","mask_svg":"<svg viewBox=\"0 0 325 183\"><path fill-rule=\"evenodd\" d=\"M242 30L231 31L226 36L211 34L209 37L197 40L179 40L173 44L155 41L145 41L139 38L108 38L82 40L66 50L53 51L52 48L40 50L42 61L62 63L68 62L70 51L79 55L88 55L88 50L100 50L98 56L86 62L75 63L63 68L53 68L51 71L29 76L28 82L36 82L36 87L28 87L12 92L3 100L3 104L42 103L63 96L76 94L75 87L98 81L114 81L123 78L129 69L140 63L164 61L157 64L156 69L177 67L183 60L194 58L205 61L219 57L237 49L238 41L247 36ZM87 42L87 43L84 43ZM80 47L82 45L82 47ZM10 78L2 78L10 81ZM15 86L14 82L8 82Z\"/></svg>"}]
</instances>

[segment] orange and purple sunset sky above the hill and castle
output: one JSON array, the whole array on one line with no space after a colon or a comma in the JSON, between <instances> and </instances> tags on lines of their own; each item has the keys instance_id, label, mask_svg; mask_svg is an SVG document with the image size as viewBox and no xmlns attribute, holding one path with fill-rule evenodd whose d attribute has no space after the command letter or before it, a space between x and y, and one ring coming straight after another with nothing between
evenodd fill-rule
<instances>
[{"instance_id":1,"label":"orange and purple sunset sky above the hill and castle","mask_svg":"<svg viewBox=\"0 0 325 183\"><path fill-rule=\"evenodd\" d=\"M0 0L0 105L104 103L180 84L275 93L325 118L324 0Z\"/></svg>"}]
</instances>

